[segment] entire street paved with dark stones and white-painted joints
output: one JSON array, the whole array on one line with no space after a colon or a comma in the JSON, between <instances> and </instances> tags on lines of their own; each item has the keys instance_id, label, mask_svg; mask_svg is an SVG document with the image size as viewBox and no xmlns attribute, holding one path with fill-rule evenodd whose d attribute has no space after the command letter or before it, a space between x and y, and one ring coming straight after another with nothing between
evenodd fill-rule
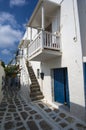
<instances>
[{"instance_id":1,"label":"entire street paved with dark stones and white-painted joints","mask_svg":"<svg viewBox=\"0 0 86 130\"><path fill-rule=\"evenodd\" d=\"M0 130L86 130L86 125L44 101L27 101L19 91L5 94L0 104Z\"/></svg>"}]
</instances>

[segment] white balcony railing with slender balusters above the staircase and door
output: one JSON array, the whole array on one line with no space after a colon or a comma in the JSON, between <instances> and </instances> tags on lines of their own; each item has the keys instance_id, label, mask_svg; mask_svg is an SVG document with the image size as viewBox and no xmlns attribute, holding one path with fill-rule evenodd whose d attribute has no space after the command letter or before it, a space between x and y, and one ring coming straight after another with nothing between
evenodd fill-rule
<instances>
[{"instance_id":1,"label":"white balcony railing with slender balusters above the staircase and door","mask_svg":"<svg viewBox=\"0 0 86 130\"><path fill-rule=\"evenodd\" d=\"M60 51L60 37L56 34L41 31L28 46L28 55L32 56L40 49L51 49Z\"/></svg>"}]
</instances>

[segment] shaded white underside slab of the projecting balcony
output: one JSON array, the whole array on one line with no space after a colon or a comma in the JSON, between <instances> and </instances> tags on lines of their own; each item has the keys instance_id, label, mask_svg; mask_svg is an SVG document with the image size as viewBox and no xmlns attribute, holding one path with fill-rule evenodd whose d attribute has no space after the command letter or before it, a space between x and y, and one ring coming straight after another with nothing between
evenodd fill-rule
<instances>
[{"instance_id":1,"label":"shaded white underside slab of the projecting balcony","mask_svg":"<svg viewBox=\"0 0 86 130\"><path fill-rule=\"evenodd\" d=\"M34 53L32 56L29 57L29 60L31 61L46 61L50 60L52 58L56 58L58 56L61 56L62 52L57 50L51 50L51 49L39 49L36 53Z\"/></svg>"}]
</instances>

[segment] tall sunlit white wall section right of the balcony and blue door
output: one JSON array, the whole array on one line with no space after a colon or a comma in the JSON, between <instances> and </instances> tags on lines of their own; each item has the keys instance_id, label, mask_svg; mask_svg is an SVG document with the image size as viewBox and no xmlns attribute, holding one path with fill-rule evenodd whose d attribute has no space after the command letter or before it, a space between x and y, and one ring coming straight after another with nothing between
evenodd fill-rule
<instances>
[{"instance_id":1,"label":"tall sunlit white wall section right of the balcony and blue door","mask_svg":"<svg viewBox=\"0 0 86 130\"><path fill-rule=\"evenodd\" d=\"M82 49L77 3L74 0L65 0L61 8L62 65L68 67L70 101L84 107ZM77 38L76 42L73 40L74 37ZM77 93L77 90L80 91Z\"/></svg>"}]
</instances>

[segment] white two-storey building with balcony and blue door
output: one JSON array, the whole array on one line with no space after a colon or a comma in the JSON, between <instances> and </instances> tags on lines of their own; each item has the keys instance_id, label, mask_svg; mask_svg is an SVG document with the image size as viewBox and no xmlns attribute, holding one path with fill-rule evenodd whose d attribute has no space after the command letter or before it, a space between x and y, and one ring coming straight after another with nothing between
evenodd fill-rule
<instances>
[{"instance_id":1,"label":"white two-storey building with balcony and blue door","mask_svg":"<svg viewBox=\"0 0 86 130\"><path fill-rule=\"evenodd\" d=\"M85 120L86 0L39 0L28 27L28 61L44 98Z\"/></svg>"}]
</instances>

